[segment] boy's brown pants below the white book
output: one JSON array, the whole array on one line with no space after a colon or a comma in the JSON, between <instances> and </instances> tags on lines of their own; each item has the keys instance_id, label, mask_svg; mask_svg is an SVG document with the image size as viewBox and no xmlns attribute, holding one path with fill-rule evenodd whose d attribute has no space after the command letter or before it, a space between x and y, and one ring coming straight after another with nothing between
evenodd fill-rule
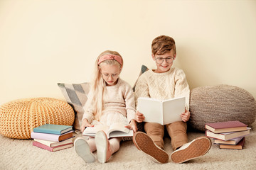
<instances>
[{"instance_id":1,"label":"boy's brown pants below the white book","mask_svg":"<svg viewBox=\"0 0 256 170\"><path fill-rule=\"evenodd\" d=\"M188 137L186 134L187 125L182 121L170 123L168 125L161 125L159 123L145 123L144 130L146 134L149 135L154 143L161 147L161 149L164 149L164 127L171 137L171 147L174 150L188 142Z\"/></svg>"}]
</instances>

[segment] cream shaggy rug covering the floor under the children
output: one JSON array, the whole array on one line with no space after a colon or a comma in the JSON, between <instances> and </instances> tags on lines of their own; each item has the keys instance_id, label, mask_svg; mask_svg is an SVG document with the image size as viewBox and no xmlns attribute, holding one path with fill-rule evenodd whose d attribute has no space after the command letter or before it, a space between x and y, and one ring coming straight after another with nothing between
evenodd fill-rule
<instances>
[{"instance_id":1,"label":"cream shaggy rug covering the floor under the children","mask_svg":"<svg viewBox=\"0 0 256 170\"><path fill-rule=\"evenodd\" d=\"M183 164L157 164L137 150L132 141L122 142L117 153L105 164L86 164L74 148L49 152L32 146L33 140L14 140L0 135L0 169L256 169L256 122L251 126L245 148L219 149L213 145L208 154ZM204 135L188 132L188 140ZM170 139L165 138L166 151L171 154Z\"/></svg>"}]
</instances>

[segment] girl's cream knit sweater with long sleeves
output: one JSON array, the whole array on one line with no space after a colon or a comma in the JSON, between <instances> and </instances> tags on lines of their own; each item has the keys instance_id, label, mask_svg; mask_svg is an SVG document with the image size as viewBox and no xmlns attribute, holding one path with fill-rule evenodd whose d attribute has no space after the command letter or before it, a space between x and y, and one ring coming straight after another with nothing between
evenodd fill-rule
<instances>
[{"instance_id":1,"label":"girl's cream knit sweater with long sleeves","mask_svg":"<svg viewBox=\"0 0 256 170\"><path fill-rule=\"evenodd\" d=\"M135 118L135 101L132 87L122 79L118 79L114 86L106 86L105 94L103 95L102 116L111 120L105 120L110 123L112 120L122 120L122 118L113 118L114 116L127 117L127 123ZM84 106L85 113L82 120L87 118L89 123L95 118L95 102L92 101L92 91L89 92L87 102ZM119 114L112 114L119 113ZM107 116L106 114L112 114ZM106 117L107 116L107 117ZM105 124L105 122L103 124Z\"/></svg>"}]
</instances>

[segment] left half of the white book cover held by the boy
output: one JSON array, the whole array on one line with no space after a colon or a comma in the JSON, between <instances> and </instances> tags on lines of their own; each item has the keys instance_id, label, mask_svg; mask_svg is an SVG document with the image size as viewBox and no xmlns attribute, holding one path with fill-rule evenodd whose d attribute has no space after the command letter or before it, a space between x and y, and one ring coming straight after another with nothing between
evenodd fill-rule
<instances>
[{"instance_id":1,"label":"left half of the white book cover held by the boy","mask_svg":"<svg viewBox=\"0 0 256 170\"><path fill-rule=\"evenodd\" d=\"M145 116L144 122L163 123L162 103L154 98L138 98L138 111Z\"/></svg>"}]
</instances>

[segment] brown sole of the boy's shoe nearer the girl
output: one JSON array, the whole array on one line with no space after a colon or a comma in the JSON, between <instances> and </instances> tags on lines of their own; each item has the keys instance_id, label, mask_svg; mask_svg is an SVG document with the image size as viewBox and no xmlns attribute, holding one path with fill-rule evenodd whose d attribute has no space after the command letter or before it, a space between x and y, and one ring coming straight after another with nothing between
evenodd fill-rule
<instances>
[{"instance_id":1,"label":"brown sole of the boy's shoe nearer the girl","mask_svg":"<svg viewBox=\"0 0 256 170\"><path fill-rule=\"evenodd\" d=\"M157 147L153 140L144 132L137 132L133 137L134 145L156 162L161 164L169 162L169 155L161 148Z\"/></svg>"}]
</instances>

